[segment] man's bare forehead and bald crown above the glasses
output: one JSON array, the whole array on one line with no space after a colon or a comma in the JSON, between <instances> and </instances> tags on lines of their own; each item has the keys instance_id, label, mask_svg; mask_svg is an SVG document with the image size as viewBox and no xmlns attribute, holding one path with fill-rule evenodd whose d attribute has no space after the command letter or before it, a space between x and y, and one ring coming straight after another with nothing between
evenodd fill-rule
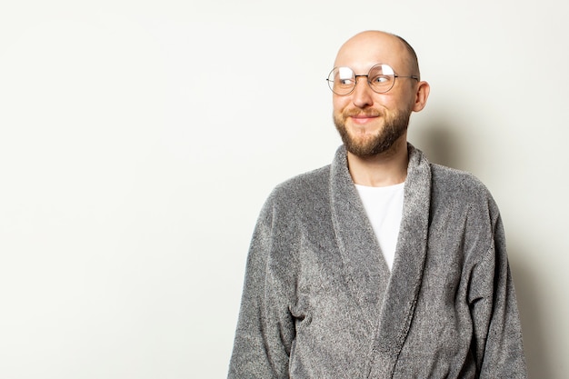
<instances>
[{"instance_id":1,"label":"man's bare forehead and bald crown above the glasses","mask_svg":"<svg viewBox=\"0 0 569 379\"><path fill-rule=\"evenodd\" d=\"M407 70L408 52L394 35L368 32L355 35L338 51L334 66L348 66L355 72L367 72L379 63L391 65L395 72Z\"/></svg>"}]
</instances>

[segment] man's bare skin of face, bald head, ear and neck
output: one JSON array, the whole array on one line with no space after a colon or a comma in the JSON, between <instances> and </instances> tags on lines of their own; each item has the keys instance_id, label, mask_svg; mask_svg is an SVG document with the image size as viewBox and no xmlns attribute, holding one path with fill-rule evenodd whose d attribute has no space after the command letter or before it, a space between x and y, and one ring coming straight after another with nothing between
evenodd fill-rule
<instances>
[{"instance_id":1,"label":"man's bare skin of face, bald head, ear and neck","mask_svg":"<svg viewBox=\"0 0 569 379\"><path fill-rule=\"evenodd\" d=\"M368 31L350 38L338 51L334 66L351 67L356 75L366 75L376 64L387 64L398 75L413 72L411 57L404 43L394 35ZM415 69L416 71L416 69ZM364 78L359 78L350 95L333 94L334 123L349 145L350 175L356 185L385 186L403 183L407 175L407 125L412 112L420 112L426 104L430 87L424 81L397 78L385 94L376 94ZM397 126L398 125L398 126ZM393 143L384 138L387 132L400 134ZM379 153L369 145L383 142ZM347 144L344 144L347 146ZM376 149L377 150L377 149ZM363 152L368 153L363 153Z\"/></svg>"}]
</instances>

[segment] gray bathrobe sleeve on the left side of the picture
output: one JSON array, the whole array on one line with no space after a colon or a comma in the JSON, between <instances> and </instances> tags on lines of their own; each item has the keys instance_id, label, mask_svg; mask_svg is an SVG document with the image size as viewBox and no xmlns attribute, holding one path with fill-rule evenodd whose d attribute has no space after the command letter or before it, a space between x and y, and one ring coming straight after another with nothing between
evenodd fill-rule
<instances>
[{"instance_id":1,"label":"gray bathrobe sleeve on the left side of the picture","mask_svg":"<svg viewBox=\"0 0 569 379\"><path fill-rule=\"evenodd\" d=\"M277 220L276 208L269 197L255 226L228 378L288 378L294 320L286 295L289 291L284 289L291 282L283 276L290 273L286 269L292 264L277 264L272 255L276 252L279 259L287 259L277 251L275 233L291 235L291 231L287 223Z\"/></svg>"}]
</instances>

